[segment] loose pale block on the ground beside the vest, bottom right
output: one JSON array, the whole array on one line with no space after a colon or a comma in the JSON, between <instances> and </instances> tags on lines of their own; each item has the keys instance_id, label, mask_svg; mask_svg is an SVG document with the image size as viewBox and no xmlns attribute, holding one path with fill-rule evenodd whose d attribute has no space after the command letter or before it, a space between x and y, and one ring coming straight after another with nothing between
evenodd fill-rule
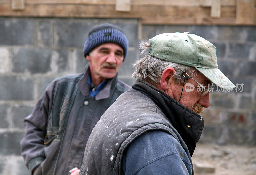
<instances>
[{"instance_id":1,"label":"loose pale block on the ground beside the vest, bottom right","mask_svg":"<svg viewBox=\"0 0 256 175\"><path fill-rule=\"evenodd\" d=\"M193 162L193 167L196 174L213 174L215 167L206 162Z\"/></svg>"}]
</instances>

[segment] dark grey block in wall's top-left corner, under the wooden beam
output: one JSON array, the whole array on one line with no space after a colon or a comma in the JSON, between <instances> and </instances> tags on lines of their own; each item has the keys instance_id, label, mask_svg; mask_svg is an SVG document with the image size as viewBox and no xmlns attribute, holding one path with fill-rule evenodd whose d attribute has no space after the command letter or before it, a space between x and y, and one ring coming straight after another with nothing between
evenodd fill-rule
<instances>
[{"instance_id":1,"label":"dark grey block in wall's top-left corner, under the wooden beam","mask_svg":"<svg viewBox=\"0 0 256 175\"><path fill-rule=\"evenodd\" d=\"M0 44L33 45L35 22L32 19L1 18Z\"/></svg>"}]
</instances>

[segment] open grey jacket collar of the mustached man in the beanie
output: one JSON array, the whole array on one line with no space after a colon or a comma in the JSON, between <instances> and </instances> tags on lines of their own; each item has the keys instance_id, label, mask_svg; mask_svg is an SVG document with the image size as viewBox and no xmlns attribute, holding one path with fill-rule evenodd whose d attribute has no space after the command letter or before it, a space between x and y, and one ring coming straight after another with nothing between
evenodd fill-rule
<instances>
[{"instance_id":1,"label":"open grey jacket collar of the mustached man in the beanie","mask_svg":"<svg viewBox=\"0 0 256 175\"><path fill-rule=\"evenodd\" d=\"M89 85L87 84L87 79L89 76L89 63L86 64L85 66L85 72L83 77L78 81L78 89L82 92L84 96L89 95ZM108 82L103 86L103 88L99 91L99 93L95 96L95 100L101 100L108 98L110 96L110 91L112 87L116 84L117 82L117 74L115 77L111 78L108 80Z\"/></svg>"}]
</instances>

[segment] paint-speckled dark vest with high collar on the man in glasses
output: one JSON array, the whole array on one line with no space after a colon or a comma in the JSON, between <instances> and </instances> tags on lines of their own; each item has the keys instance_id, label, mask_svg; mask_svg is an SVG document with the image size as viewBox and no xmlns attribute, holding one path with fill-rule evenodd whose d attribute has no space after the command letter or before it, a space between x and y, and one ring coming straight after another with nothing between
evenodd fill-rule
<instances>
[{"instance_id":1,"label":"paint-speckled dark vest with high collar on the man in glasses","mask_svg":"<svg viewBox=\"0 0 256 175\"><path fill-rule=\"evenodd\" d=\"M191 156L204 127L201 116L151 84L137 80L102 115L86 144L80 175L121 174L125 148L141 134L162 130ZM193 174L193 167L192 167Z\"/></svg>"}]
</instances>

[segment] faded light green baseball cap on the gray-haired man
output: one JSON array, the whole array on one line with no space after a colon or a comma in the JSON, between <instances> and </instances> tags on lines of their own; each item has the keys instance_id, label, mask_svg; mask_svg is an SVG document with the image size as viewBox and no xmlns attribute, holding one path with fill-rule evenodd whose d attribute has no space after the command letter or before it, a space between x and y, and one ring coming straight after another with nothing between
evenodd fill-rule
<instances>
[{"instance_id":1,"label":"faded light green baseball cap on the gray-haired man","mask_svg":"<svg viewBox=\"0 0 256 175\"><path fill-rule=\"evenodd\" d=\"M224 89L235 85L218 69L216 47L204 38L189 34L163 33L149 40L149 54L164 61L195 67L206 78Z\"/></svg>"}]
</instances>

